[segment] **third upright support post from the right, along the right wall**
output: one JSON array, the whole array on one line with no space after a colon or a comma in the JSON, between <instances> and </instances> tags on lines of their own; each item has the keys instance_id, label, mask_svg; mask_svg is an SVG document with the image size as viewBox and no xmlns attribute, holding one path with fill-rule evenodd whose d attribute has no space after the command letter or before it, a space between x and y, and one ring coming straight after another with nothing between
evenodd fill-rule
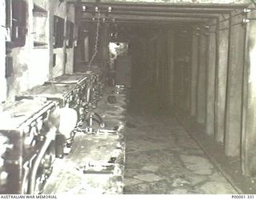
<instances>
[{"instance_id":1,"label":"third upright support post from the right, along the right wall","mask_svg":"<svg viewBox=\"0 0 256 200\"><path fill-rule=\"evenodd\" d=\"M229 26L226 20L229 15L218 18L217 24L217 52L216 52L216 79L215 79L215 139L224 142L225 112L226 112L226 78L229 51ZM223 21L226 20L226 21ZM222 21L222 22L220 22Z\"/></svg>"}]
</instances>

